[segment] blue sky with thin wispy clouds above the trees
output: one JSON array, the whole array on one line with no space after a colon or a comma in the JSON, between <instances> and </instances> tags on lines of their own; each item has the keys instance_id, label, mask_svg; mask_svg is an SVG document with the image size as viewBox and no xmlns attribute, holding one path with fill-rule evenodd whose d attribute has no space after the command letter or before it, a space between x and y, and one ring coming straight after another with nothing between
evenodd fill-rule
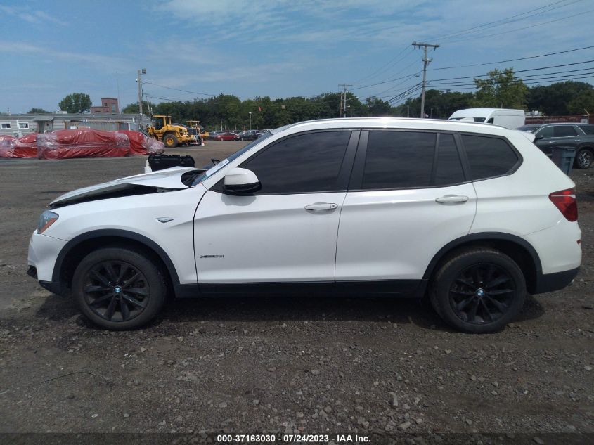
<instances>
[{"instance_id":1,"label":"blue sky with thin wispy clouds above the trees","mask_svg":"<svg viewBox=\"0 0 594 445\"><path fill-rule=\"evenodd\" d=\"M154 103L349 84L397 105L419 94L415 41L440 45L427 88L474 91L508 67L529 86L594 83L593 22L592 0L0 0L0 112L58 110L75 92L136 103L141 68Z\"/></svg>"}]
</instances>

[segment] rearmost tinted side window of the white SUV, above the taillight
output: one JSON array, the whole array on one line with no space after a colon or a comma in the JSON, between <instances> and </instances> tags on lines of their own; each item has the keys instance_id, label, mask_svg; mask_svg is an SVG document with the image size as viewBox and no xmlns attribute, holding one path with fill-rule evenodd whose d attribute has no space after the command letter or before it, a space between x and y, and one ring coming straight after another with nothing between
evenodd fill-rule
<instances>
[{"instance_id":1,"label":"rearmost tinted side window of the white SUV, above the taillight","mask_svg":"<svg viewBox=\"0 0 594 445\"><path fill-rule=\"evenodd\" d=\"M501 176L516 165L517 155L503 139L463 135L462 140L475 181Z\"/></svg>"}]
</instances>

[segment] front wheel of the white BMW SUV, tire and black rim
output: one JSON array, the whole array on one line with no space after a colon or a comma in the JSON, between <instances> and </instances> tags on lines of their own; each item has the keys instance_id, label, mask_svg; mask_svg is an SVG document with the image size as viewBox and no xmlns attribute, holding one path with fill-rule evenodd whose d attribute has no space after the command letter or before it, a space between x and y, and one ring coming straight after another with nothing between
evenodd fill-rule
<instances>
[{"instance_id":1,"label":"front wheel of the white BMW SUV, tire and black rim","mask_svg":"<svg viewBox=\"0 0 594 445\"><path fill-rule=\"evenodd\" d=\"M144 254L105 247L79 263L72 278L72 295L96 325L128 330L155 318L167 288L160 269Z\"/></svg>"}]
</instances>

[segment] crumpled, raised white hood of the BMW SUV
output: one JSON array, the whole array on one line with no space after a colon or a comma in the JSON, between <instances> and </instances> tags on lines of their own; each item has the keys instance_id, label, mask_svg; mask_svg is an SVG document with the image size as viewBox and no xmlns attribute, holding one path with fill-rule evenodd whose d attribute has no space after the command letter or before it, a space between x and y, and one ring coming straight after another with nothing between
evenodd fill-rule
<instances>
[{"instance_id":1,"label":"crumpled, raised white hood of the BMW SUV","mask_svg":"<svg viewBox=\"0 0 594 445\"><path fill-rule=\"evenodd\" d=\"M62 207L75 202L96 200L103 198L116 198L117 196L135 195L144 193L155 193L158 191L174 191L188 188L181 182L181 176L187 172L203 172L202 169L194 167L172 167L157 172L127 176L122 179L78 188L60 195L50 202L49 207Z\"/></svg>"}]
</instances>

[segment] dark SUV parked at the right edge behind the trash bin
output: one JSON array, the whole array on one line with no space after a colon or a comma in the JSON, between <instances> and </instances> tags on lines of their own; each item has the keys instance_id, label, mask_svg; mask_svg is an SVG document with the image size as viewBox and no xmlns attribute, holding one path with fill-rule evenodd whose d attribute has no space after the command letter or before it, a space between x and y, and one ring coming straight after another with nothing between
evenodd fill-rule
<instances>
[{"instance_id":1,"label":"dark SUV parked at the right edge behind the trash bin","mask_svg":"<svg viewBox=\"0 0 594 445\"><path fill-rule=\"evenodd\" d=\"M594 125L578 123L542 124L534 131L534 144L550 156L555 147L576 149L574 167L586 169L594 159Z\"/></svg>"}]
</instances>

